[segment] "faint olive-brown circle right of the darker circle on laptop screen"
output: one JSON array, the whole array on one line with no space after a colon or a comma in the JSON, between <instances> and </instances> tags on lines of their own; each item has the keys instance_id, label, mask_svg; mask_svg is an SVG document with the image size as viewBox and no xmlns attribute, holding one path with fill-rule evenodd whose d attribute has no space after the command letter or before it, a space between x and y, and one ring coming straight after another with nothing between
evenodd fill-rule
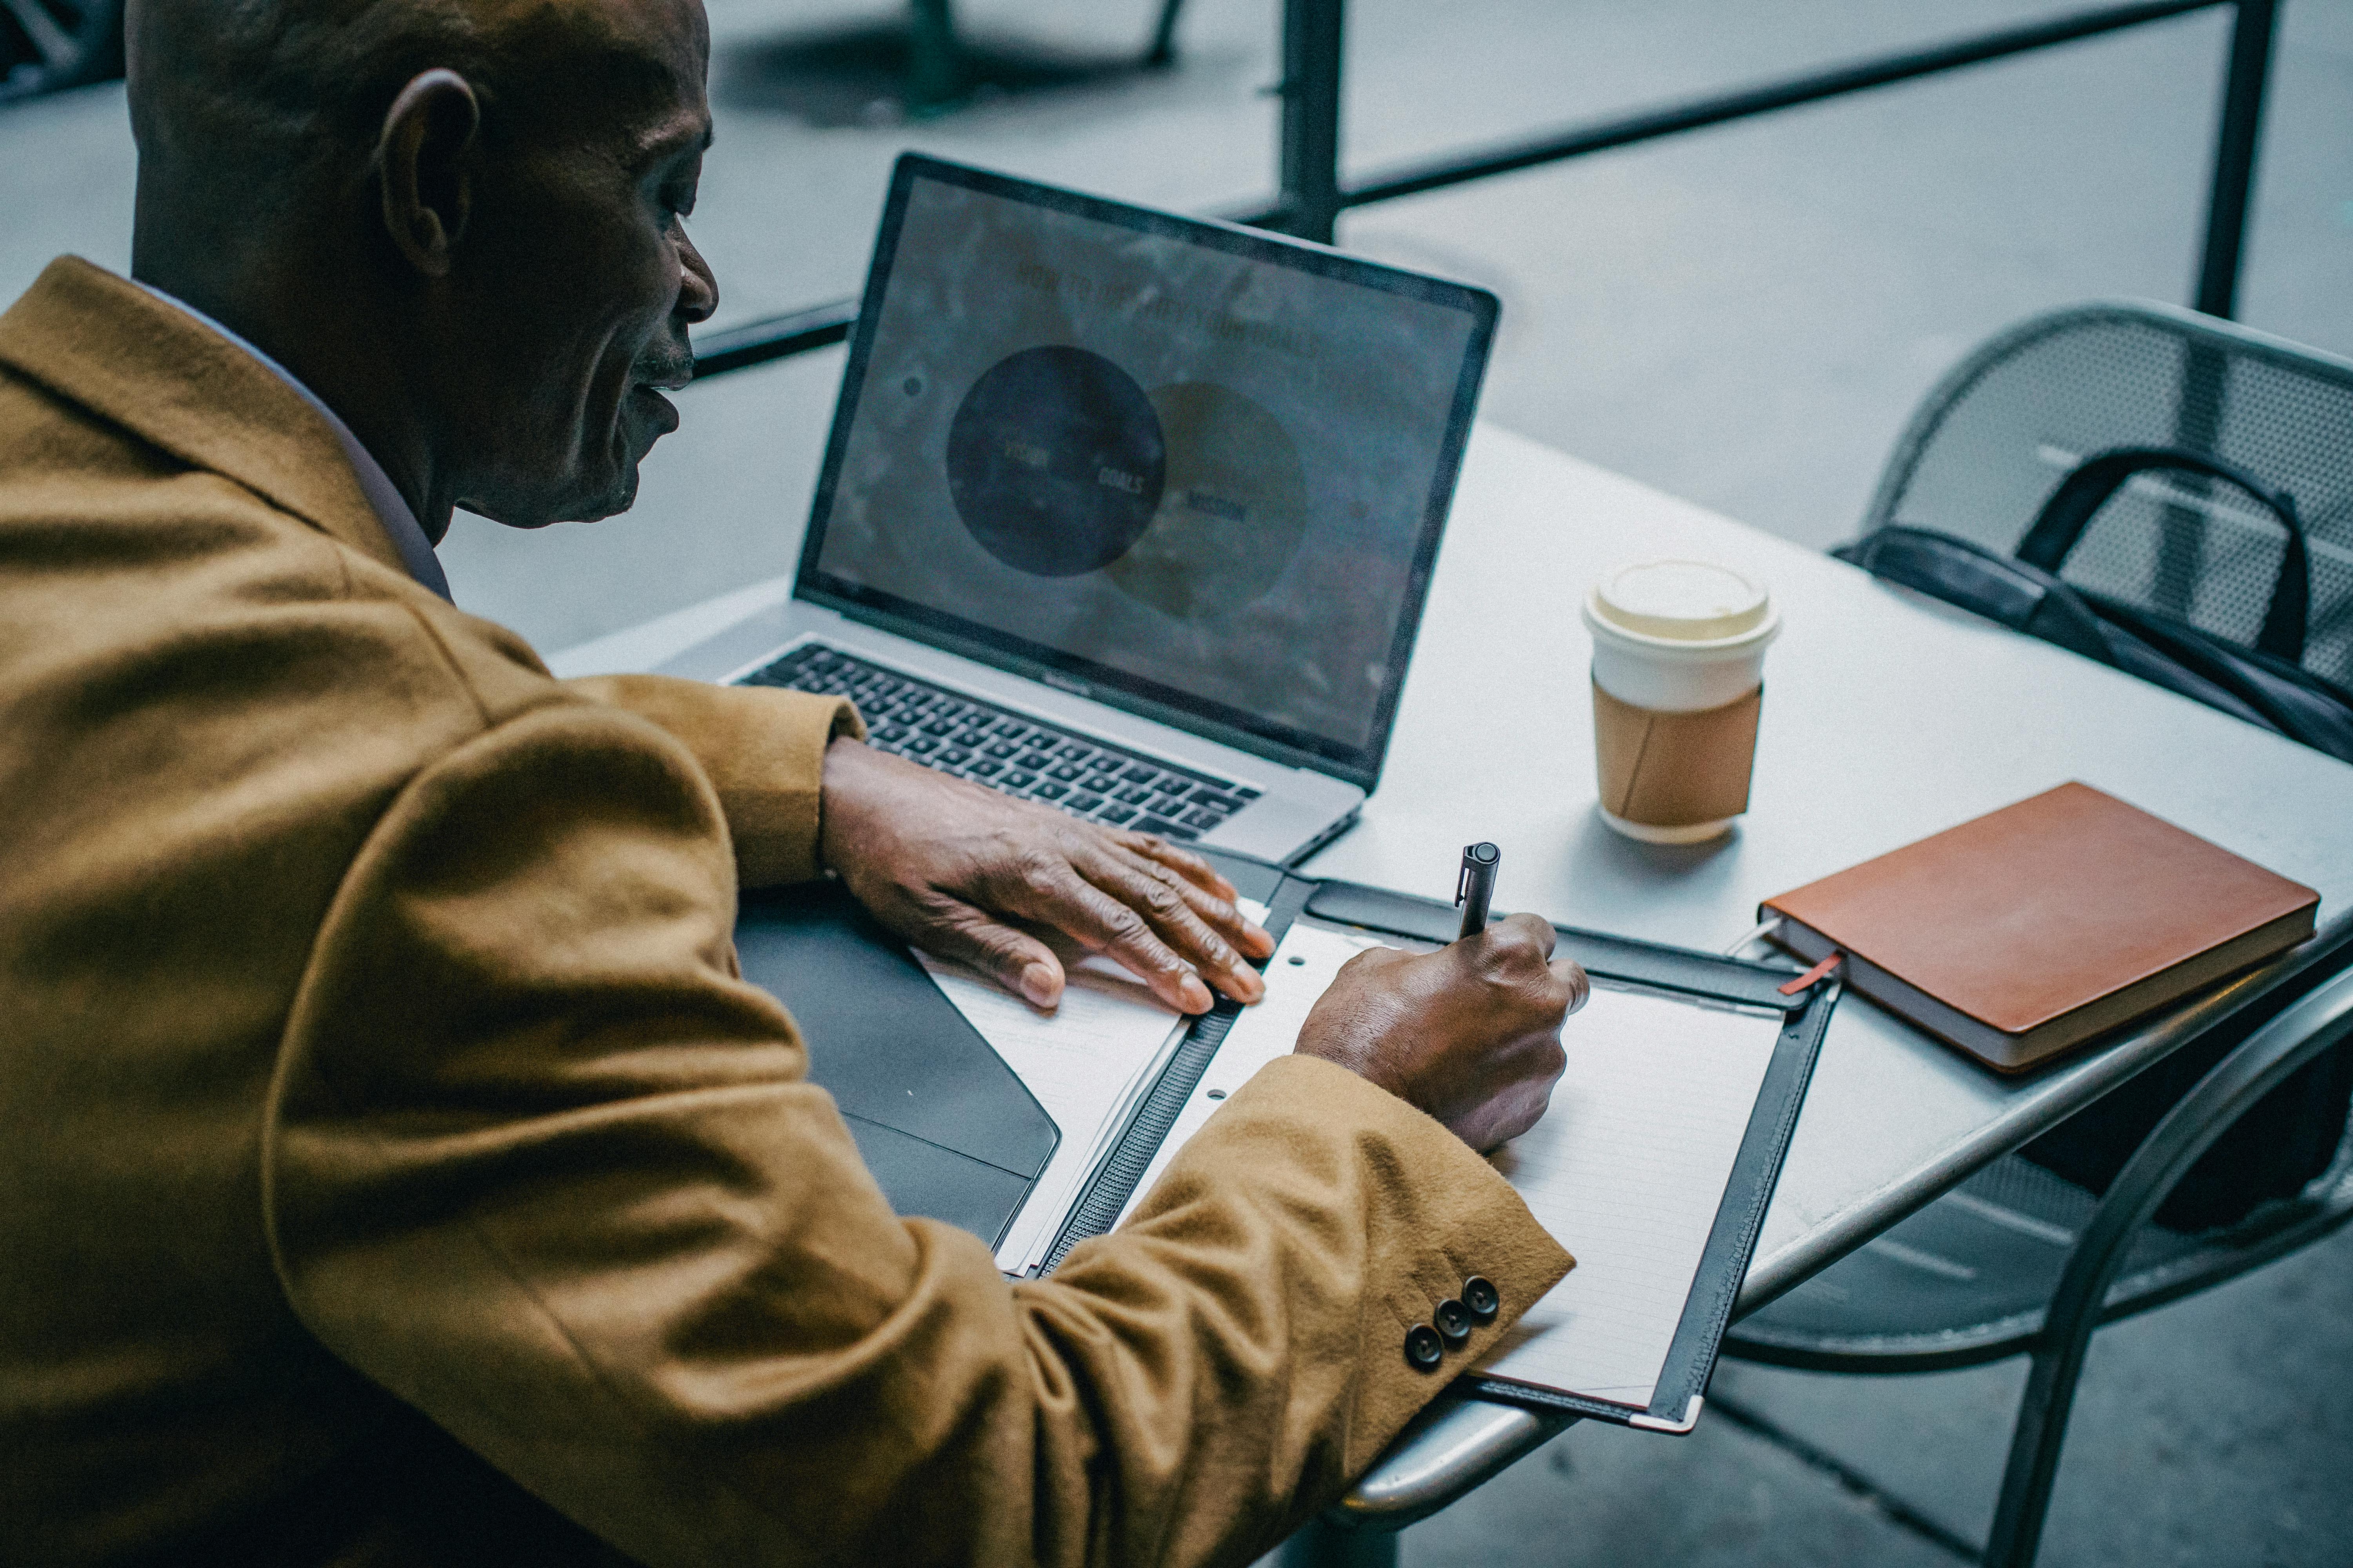
<instances>
[{"instance_id":1,"label":"faint olive-brown circle right of the darker circle on laptop screen","mask_svg":"<svg viewBox=\"0 0 2353 1568\"><path fill-rule=\"evenodd\" d=\"M1306 538L1299 447L1282 421L1212 381L1155 388L1153 411L1167 437L1160 512L1106 576L1179 621L1231 616L1275 585Z\"/></svg>"}]
</instances>

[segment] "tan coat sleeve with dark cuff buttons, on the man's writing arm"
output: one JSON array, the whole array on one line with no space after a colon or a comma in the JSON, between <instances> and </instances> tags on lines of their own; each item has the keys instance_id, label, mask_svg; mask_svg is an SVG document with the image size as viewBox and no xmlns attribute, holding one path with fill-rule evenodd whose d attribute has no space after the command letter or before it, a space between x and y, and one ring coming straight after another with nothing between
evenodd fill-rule
<instances>
[{"instance_id":1,"label":"tan coat sleeve with dark cuff buttons, on the man's writing arm","mask_svg":"<svg viewBox=\"0 0 2353 1568\"><path fill-rule=\"evenodd\" d=\"M301 1321L649 1568L1247 1563L1567 1269L1442 1126L1287 1058L1007 1284L892 1215L732 914L678 741L499 724L355 860L264 1121ZM1473 1272L1504 1314L1414 1371Z\"/></svg>"}]
</instances>

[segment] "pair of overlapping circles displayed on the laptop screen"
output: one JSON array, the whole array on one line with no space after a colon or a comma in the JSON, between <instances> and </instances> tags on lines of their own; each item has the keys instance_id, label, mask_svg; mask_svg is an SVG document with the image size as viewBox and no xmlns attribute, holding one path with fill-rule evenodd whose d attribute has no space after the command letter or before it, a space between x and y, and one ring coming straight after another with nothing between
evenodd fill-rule
<instances>
[{"instance_id":1,"label":"pair of overlapping circles displayed on the laptop screen","mask_svg":"<svg viewBox=\"0 0 2353 1568\"><path fill-rule=\"evenodd\" d=\"M948 494L988 555L1045 578L1101 571L1181 621L1214 621L1282 576L1306 536L1299 447L1212 381L1146 393L1064 343L991 364L948 425Z\"/></svg>"}]
</instances>

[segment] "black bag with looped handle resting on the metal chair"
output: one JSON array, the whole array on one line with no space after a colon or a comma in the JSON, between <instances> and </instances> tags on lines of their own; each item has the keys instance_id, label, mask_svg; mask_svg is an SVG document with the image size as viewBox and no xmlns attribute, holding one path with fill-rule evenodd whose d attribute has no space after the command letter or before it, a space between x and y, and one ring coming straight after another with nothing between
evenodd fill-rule
<instances>
[{"instance_id":1,"label":"black bag with looped handle resting on the metal chair","mask_svg":"<svg viewBox=\"0 0 2353 1568\"><path fill-rule=\"evenodd\" d=\"M2068 550L2108 496L2129 477L2160 468L2231 484L2264 505L2287 531L2280 574L2254 649L2059 578ZM2353 762L2353 693L2301 665L2311 571L2294 496L2266 489L2228 463L2162 447L2122 447L2085 458L2042 503L2017 555L1995 555L1951 534L1897 524L1840 545L1833 555L1887 583L1977 611L2028 637L2073 649ZM2329 969L2315 964L2313 973ZM2106 1192L2174 1100L2188 1093L2231 1046L2287 1006L2292 994L2285 990L2268 999L2268 1006L2245 1009L2226 1030L2075 1112L2026 1145L2026 1159L2080 1187ZM2299 1194L2337 1157L2348 1110L2353 1110L2353 1051L2337 1048L2247 1110L2181 1178L2158 1211L2158 1222L2172 1229L2209 1229L2233 1225L2266 1201Z\"/></svg>"}]
</instances>

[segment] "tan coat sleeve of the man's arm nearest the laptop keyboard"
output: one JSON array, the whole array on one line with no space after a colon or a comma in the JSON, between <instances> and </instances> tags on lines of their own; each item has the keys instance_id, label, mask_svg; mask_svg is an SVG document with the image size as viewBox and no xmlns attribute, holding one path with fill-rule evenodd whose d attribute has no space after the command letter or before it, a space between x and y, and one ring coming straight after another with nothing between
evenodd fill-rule
<instances>
[{"instance_id":1,"label":"tan coat sleeve of the man's arm nearest the laptop keyboard","mask_svg":"<svg viewBox=\"0 0 2353 1568\"><path fill-rule=\"evenodd\" d=\"M694 755L727 816L741 886L809 882L824 870L826 745L866 738L849 701L668 675L591 675L565 686L652 719Z\"/></svg>"}]
</instances>

